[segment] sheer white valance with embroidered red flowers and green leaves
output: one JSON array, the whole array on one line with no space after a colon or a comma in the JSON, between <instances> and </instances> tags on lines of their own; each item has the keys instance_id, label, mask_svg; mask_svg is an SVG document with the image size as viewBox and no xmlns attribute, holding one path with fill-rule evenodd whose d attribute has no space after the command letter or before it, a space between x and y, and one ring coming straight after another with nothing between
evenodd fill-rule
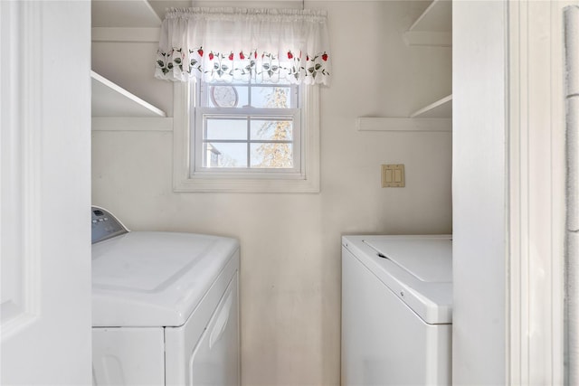
<instances>
[{"instance_id":1,"label":"sheer white valance with embroidered red flowers and green leaves","mask_svg":"<svg viewBox=\"0 0 579 386\"><path fill-rule=\"evenodd\" d=\"M330 62L325 11L173 8L161 26L155 76L327 85Z\"/></svg>"}]
</instances>

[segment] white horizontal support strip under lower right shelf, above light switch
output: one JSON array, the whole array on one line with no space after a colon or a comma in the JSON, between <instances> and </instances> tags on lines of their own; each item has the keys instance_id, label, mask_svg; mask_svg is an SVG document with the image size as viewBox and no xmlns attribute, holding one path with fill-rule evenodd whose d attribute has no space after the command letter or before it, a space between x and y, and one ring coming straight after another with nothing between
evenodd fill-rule
<instances>
[{"instance_id":1,"label":"white horizontal support strip under lower right shelf, above light switch","mask_svg":"<svg viewBox=\"0 0 579 386\"><path fill-rule=\"evenodd\" d=\"M451 118L373 118L356 119L359 131L452 131Z\"/></svg>"}]
</instances>

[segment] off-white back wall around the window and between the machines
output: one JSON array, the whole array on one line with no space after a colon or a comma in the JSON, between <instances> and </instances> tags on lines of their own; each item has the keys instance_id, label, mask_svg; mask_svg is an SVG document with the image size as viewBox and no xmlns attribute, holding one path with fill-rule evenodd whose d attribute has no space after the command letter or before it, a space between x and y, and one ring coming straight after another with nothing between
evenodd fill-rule
<instances>
[{"instance_id":1,"label":"off-white back wall around the window and between the machines","mask_svg":"<svg viewBox=\"0 0 579 386\"><path fill-rule=\"evenodd\" d=\"M243 384L339 383L342 234L452 231L451 133L355 126L450 94L451 49L403 43L426 5L306 2L328 10L333 56L320 100L321 193L174 193L171 132L93 132L93 203L133 230L241 240ZM171 113L171 85L152 78L155 52L94 42L93 69ZM405 164L405 188L380 187L380 165L392 163Z\"/></svg>"}]
</instances>

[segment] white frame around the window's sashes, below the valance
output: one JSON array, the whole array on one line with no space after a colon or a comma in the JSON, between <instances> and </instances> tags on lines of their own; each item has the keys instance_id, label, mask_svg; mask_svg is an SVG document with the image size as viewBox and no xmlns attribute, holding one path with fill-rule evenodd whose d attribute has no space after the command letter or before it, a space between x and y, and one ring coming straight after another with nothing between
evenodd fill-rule
<instances>
[{"instance_id":1,"label":"white frame around the window's sashes, below the valance","mask_svg":"<svg viewBox=\"0 0 579 386\"><path fill-rule=\"evenodd\" d=\"M175 192L318 193L319 87L301 87L300 167L294 172L270 170L195 171L194 82L174 84L173 190ZM295 144L294 144L295 146ZM296 149L294 149L296 151Z\"/></svg>"}]
</instances>

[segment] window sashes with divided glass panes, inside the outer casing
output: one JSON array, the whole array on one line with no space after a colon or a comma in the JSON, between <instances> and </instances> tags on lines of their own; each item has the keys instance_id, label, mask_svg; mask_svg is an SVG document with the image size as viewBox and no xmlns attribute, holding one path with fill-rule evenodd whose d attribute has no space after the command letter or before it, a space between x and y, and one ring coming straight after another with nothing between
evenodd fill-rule
<instances>
[{"instance_id":1,"label":"window sashes with divided glass panes, inside the outer casing","mask_svg":"<svg viewBox=\"0 0 579 386\"><path fill-rule=\"evenodd\" d=\"M299 85L197 83L192 174L299 174Z\"/></svg>"}]
</instances>

